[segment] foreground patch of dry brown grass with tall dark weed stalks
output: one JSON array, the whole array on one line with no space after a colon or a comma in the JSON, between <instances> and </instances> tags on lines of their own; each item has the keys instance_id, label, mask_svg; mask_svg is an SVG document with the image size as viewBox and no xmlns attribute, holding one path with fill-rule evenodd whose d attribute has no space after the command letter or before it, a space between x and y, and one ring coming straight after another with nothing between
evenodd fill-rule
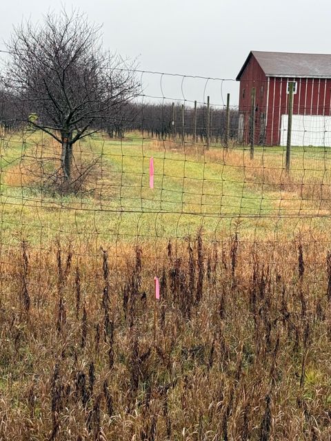
<instances>
[{"instance_id":1,"label":"foreground patch of dry brown grass with tall dark weed stalks","mask_svg":"<svg viewBox=\"0 0 331 441\"><path fill-rule=\"evenodd\" d=\"M330 440L323 243L84 251L1 250L0 439Z\"/></svg>"}]
</instances>

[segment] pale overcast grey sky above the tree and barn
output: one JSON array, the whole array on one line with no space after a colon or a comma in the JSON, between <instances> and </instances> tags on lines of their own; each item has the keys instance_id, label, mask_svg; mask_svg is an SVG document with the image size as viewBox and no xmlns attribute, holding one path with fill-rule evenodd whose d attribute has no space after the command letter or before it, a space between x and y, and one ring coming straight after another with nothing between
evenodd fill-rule
<instances>
[{"instance_id":1,"label":"pale overcast grey sky above the tree and barn","mask_svg":"<svg viewBox=\"0 0 331 441\"><path fill-rule=\"evenodd\" d=\"M12 25L79 8L103 23L105 48L138 57L141 70L235 79L250 50L331 53L330 0L0 0L0 49ZM238 83L146 74L145 93L237 103ZM162 89L161 89L162 85ZM183 96L184 95L184 96Z\"/></svg>"}]
</instances>

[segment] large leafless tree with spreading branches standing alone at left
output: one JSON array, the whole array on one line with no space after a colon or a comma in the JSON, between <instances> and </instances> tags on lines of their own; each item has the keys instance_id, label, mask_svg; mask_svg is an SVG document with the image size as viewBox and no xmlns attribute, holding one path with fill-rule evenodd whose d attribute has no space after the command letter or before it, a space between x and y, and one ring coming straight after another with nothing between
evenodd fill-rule
<instances>
[{"instance_id":1,"label":"large leafless tree with spreading branches standing alone at left","mask_svg":"<svg viewBox=\"0 0 331 441\"><path fill-rule=\"evenodd\" d=\"M101 48L100 26L77 11L14 28L6 85L30 127L61 143L61 178L72 179L74 143L110 121L137 94L134 65ZM32 116L31 116L32 115Z\"/></svg>"}]
</instances>

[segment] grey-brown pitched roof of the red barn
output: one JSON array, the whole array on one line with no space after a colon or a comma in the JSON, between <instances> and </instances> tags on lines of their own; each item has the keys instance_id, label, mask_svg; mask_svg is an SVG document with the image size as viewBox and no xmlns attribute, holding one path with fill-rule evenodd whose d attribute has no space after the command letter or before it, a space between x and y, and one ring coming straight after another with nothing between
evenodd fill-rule
<instances>
[{"instance_id":1,"label":"grey-brown pitched roof of the red barn","mask_svg":"<svg viewBox=\"0 0 331 441\"><path fill-rule=\"evenodd\" d=\"M237 76L237 81L241 79L252 56L257 59L266 76L331 78L330 54L293 54L252 50Z\"/></svg>"}]
</instances>

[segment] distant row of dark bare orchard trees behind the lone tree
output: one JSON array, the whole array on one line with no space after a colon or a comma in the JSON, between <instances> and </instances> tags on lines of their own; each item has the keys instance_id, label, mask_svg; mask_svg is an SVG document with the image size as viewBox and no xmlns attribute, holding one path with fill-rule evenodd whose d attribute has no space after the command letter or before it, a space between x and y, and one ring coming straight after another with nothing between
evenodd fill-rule
<instances>
[{"instance_id":1,"label":"distant row of dark bare orchard trees behind the lone tree","mask_svg":"<svg viewBox=\"0 0 331 441\"><path fill-rule=\"evenodd\" d=\"M0 121L3 128L16 129L25 119L29 124L41 123L37 112L26 112L19 108L19 100L14 95L0 91ZM33 115L35 117L33 118ZM106 130L111 138L123 138L127 132L137 130L151 138L190 139L197 143L225 143L225 140L237 139L239 114L237 108L230 108L227 126L227 109L210 107L209 124L206 105L185 107L181 103L121 103L108 115L108 119L100 118L91 125L91 130ZM46 127L47 130L47 127ZM228 133L227 133L228 130Z\"/></svg>"}]
</instances>

